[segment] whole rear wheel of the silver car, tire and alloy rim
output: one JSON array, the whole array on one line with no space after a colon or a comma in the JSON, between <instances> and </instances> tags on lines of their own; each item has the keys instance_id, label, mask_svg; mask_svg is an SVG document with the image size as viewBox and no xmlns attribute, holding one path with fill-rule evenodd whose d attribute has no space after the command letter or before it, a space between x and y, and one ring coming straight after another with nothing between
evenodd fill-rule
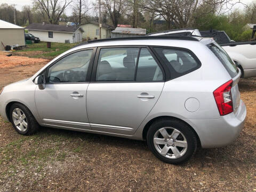
<instances>
[{"instance_id":1,"label":"whole rear wheel of the silver car, tire and alloy rim","mask_svg":"<svg viewBox=\"0 0 256 192\"><path fill-rule=\"evenodd\" d=\"M147 145L161 161L179 164L195 154L197 138L186 123L165 118L151 124L147 132Z\"/></svg>"}]
</instances>

